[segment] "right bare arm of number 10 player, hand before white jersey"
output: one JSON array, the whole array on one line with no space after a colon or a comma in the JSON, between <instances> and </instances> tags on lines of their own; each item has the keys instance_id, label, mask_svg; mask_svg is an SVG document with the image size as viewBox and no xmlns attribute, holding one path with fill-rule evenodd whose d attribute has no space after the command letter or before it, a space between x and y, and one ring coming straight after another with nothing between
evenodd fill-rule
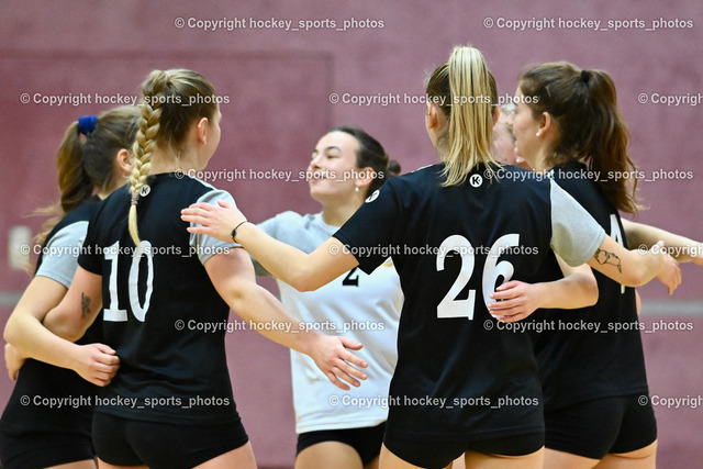
<instances>
[{"instance_id":1,"label":"right bare arm of number 10 player, hand before white jersey","mask_svg":"<svg viewBox=\"0 0 703 469\"><path fill-rule=\"evenodd\" d=\"M282 328L257 327L264 336L309 355L330 381L341 389L349 389L342 381L358 387L357 379L366 379L366 375L353 366L366 367L366 361L347 350L359 349L361 345L346 337L331 337L311 331L288 314L271 293L256 283L252 260L244 249L231 249L213 256L204 267L220 295L242 319L286 325Z\"/></svg>"}]
</instances>

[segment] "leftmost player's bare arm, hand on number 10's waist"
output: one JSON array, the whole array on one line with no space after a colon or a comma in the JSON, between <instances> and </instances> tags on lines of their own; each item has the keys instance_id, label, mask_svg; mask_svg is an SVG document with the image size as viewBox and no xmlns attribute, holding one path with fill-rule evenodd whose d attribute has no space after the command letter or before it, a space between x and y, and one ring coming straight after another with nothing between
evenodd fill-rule
<instances>
[{"instance_id":1,"label":"leftmost player's bare arm, hand on number 10's waist","mask_svg":"<svg viewBox=\"0 0 703 469\"><path fill-rule=\"evenodd\" d=\"M103 344L76 345L42 325L47 312L66 295L66 288L55 280L42 276L32 279L4 330L4 339L14 347L5 348L5 365L11 379L16 379L24 358L72 369L98 386L108 384L114 377L120 359L111 347ZM77 312L78 309L72 311ZM80 335L68 334L68 327L65 332L65 336L71 339L82 336L82 332Z\"/></svg>"}]
</instances>

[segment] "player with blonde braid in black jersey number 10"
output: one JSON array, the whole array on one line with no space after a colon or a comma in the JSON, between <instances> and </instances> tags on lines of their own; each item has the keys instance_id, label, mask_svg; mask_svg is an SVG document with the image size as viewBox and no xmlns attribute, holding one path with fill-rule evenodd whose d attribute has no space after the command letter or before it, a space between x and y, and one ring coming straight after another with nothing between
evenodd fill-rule
<instances>
[{"instance_id":1,"label":"player with blonde braid in black jersey number 10","mask_svg":"<svg viewBox=\"0 0 703 469\"><path fill-rule=\"evenodd\" d=\"M243 249L188 234L182 206L233 202L185 176L202 170L220 142L216 96L185 69L153 71L142 91L130 185L98 208L74 282L44 324L80 336L104 303L104 340L121 368L96 406L101 467L254 468L225 359L230 306L265 336L310 355L345 390L343 381L366 379L353 366L364 360L345 348L360 345L286 313L256 284Z\"/></svg>"}]
</instances>

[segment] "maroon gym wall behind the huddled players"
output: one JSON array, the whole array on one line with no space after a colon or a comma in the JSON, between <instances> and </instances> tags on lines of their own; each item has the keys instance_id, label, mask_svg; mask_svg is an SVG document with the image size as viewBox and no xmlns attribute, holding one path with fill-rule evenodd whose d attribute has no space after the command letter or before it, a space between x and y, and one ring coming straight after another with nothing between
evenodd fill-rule
<instances>
[{"instance_id":1,"label":"maroon gym wall behind the huddled players","mask_svg":"<svg viewBox=\"0 0 703 469\"><path fill-rule=\"evenodd\" d=\"M111 105L94 103L96 94L134 97L138 83L153 68L188 67L214 83L230 102L222 105L223 137L209 169L230 172L213 183L230 190L250 220L263 220L282 210L317 210L301 182L261 179L255 170L304 169L310 150L325 129L349 123L377 136L405 170L433 163L436 156L423 129L424 108L391 103L360 107L332 103L331 93L352 96L423 93L425 71L444 62L453 45L471 43L481 48L499 81L500 92L512 94L515 78L526 64L569 60L584 68L605 69L618 88L620 104L632 132L632 157L645 171L640 196L650 209L640 220L691 237L703 238L700 178L701 109L699 105L661 105L654 93L703 93L703 4L682 0L667 4L636 0L606 0L563 4L556 0L492 2L449 0L357 1L346 4L322 0L277 2L126 0L0 2L0 154L3 176L0 200L0 292L21 291L25 273L7 267L8 230L29 225L35 233L41 219L25 217L37 205L53 201L55 149L69 122ZM249 19L299 21L371 20L377 27L337 31L322 27L286 32L252 29ZM644 29L594 31L560 26L559 20L641 20ZM177 27L179 19L185 21ZM193 19L193 20L191 20ZM191 21L237 20L247 27L202 31ZM501 27L504 20L554 20L555 27L525 31ZM690 21L680 29L658 29L652 20ZM492 25L490 24L492 22ZM235 24L233 24L235 25ZM327 25L330 23L327 22ZM491 27L488 27L491 26ZM29 93L30 103L22 94ZM640 103L640 94L649 102ZM48 105L35 96L90 97L91 103ZM703 97L701 97L703 99ZM690 171L691 179L651 181L656 171ZM230 180L227 180L230 179ZM684 266L684 284L669 300L660 284L641 289L645 301L663 300L656 314L700 314L703 270ZM687 303L679 303L687 301ZM11 311L5 301L0 321ZM691 316L685 316L691 317ZM693 316L692 321L700 317ZM700 327L699 327L700 330ZM652 393L660 368L671 359L680 373L671 377L682 395L702 393L695 364L676 357L701 351L694 334L683 332L647 338ZM235 393L242 401L245 423L253 435L261 466L287 465L293 448L289 370L284 349L249 333L228 337ZM688 349L677 345L687 344ZM672 345L669 348L667 345ZM659 355L661 354L661 355ZM677 355L680 354L680 355ZM666 360L660 360L666 355ZM652 362L655 366L652 367ZM279 365L280 364L280 365ZM683 373L695 378L682 380ZM698 375L695 375L698 372ZM667 375L668 376L668 375ZM2 382L0 404L8 395ZM658 410L660 412L660 410ZM701 409L679 410L693 428L701 427ZM662 462L698 461L703 454L700 436L680 435L662 421ZM677 439L670 435L676 433ZM665 436L667 435L667 436ZM696 439L698 438L698 439ZM667 443L667 444L665 444ZM683 455L683 456L681 456ZM680 459L681 457L690 459ZM676 459L679 458L679 459ZM670 466L669 462L666 466Z\"/></svg>"}]
</instances>

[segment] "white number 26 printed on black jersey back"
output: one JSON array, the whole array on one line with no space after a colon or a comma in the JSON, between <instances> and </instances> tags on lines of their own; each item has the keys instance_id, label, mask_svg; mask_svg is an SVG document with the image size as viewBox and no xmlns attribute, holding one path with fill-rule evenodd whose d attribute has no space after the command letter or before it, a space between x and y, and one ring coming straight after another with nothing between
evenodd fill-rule
<instances>
[{"instance_id":1,"label":"white number 26 printed on black jersey back","mask_svg":"<svg viewBox=\"0 0 703 469\"><path fill-rule=\"evenodd\" d=\"M490 301L489 294L495 289L495 281L499 277L503 277L503 281L512 278L515 268L507 260L498 263L499 257L507 247L514 247L520 244L520 235L511 233L501 236L493 243L489 252L486 265L483 267L482 290L483 301ZM437 317L467 317L469 321L473 319L473 310L476 308L476 290L469 290L466 300L457 300L458 294L471 280L473 267L476 265L476 254L471 242L461 235L451 235L439 245L437 253L437 271L444 270L444 261L447 255L457 252L461 256L461 268L451 288L437 305Z\"/></svg>"}]
</instances>

